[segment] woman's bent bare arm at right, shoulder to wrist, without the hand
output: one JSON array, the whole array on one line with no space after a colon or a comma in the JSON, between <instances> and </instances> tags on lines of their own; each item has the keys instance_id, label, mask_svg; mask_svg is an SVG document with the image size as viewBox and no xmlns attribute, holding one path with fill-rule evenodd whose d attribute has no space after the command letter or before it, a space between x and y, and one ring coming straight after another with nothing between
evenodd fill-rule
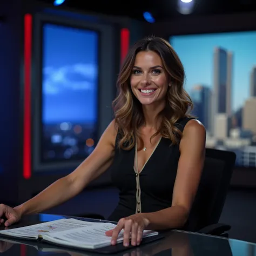
<instances>
[{"instance_id":1,"label":"woman's bent bare arm at right, shoulder to wrist, without the hand","mask_svg":"<svg viewBox=\"0 0 256 256\"><path fill-rule=\"evenodd\" d=\"M173 188L172 206L161 211L145 213L147 228L163 230L185 225L196 196L205 160L205 127L190 120L180 141L180 158ZM143 214L143 213L142 213Z\"/></svg>"}]
</instances>

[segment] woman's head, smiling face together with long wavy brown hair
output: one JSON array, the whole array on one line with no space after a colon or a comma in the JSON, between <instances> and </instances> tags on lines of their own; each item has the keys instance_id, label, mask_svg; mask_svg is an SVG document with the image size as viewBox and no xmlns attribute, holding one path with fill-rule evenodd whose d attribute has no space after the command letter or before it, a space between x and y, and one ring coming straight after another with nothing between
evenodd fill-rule
<instances>
[{"instance_id":1,"label":"woman's head, smiling face together with long wavy brown hair","mask_svg":"<svg viewBox=\"0 0 256 256\"><path fill-rule=\"evenodd\" d=\"M162 38L146 38L133 46L127 55L118 78L119 95L113 102L116 123L123 138L120 147L131 149L136 137L143 146L139 127L146 124L146 113L151 122L157 119L157 130L164 138L178 142L181 132L176 122L189 117L192 109L190 96L183 87L184 68L169 42ZM148 122L149 119L147 119ZM124 142L129 141L127 145Z\"/></svg>"}]
</instances>

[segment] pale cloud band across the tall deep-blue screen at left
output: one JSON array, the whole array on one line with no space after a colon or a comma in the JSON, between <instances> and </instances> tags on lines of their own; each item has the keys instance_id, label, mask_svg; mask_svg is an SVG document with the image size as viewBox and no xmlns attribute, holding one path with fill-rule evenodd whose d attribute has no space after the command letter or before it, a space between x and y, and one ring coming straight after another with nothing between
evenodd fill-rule
<instances>
[{"instance_id":1,"label":"pale cloud band across the tall deep-blue screen at left","mask_svg":"<svg viewBox=\"0 0 256 256\"><path fill-rule=\"evenodd\" d=\"M75 64L58 69L43 69L43 93L56 94L61 91L93 90L97 81L97 66L91 64Z\"/></svg>"}]
</instances>

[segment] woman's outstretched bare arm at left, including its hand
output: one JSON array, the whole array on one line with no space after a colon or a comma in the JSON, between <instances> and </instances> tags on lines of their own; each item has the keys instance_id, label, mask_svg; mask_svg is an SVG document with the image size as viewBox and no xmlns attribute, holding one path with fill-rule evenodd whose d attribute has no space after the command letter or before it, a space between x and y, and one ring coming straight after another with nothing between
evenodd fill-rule
<instances>
[{"instance_id":1,"label":"woman's outstretched bare arm at left, including its hand","mask_svg":"<svg viewBox=\"0 0 256 256\"><path fill-rule=\"evenodd\" d=\"M102 134L95 150L75 171L58 179L36 197L16 206L14 209L0 205L0 224L3 223L1 217L4 215L8 219L5 223L10 225L18 221L24 214L42 212L75 197L87 184L110 167L114 157L116 135L117 131L113 120ZM16 214L17 216L14 216Z\"/></svg>"}]
</instances>

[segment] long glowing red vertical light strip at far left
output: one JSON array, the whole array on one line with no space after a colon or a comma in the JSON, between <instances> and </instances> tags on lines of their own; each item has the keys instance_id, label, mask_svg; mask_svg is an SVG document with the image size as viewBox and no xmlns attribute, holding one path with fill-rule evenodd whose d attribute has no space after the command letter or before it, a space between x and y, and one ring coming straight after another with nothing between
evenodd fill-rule
<instances>
[{"instance_id":1,"label":"long glowing red vertical light strip at far left","mask_svg":"<svg viewBox=\"0 0 256 256\"><path fill-rule=\"evenodd\" d=\"M23 119L23 177L31 177L31 48L32 15L24 17L24 119Z\"/></svg>"}]
</instances>

